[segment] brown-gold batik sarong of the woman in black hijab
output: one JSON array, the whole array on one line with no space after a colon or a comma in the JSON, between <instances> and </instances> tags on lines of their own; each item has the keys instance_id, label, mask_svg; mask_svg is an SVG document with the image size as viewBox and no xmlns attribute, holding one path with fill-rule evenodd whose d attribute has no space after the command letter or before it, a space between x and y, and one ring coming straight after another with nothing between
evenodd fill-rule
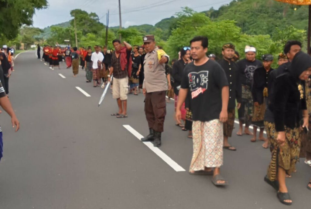
<instances>
[{"instance_id":1,"label":"brown-gold batik sarong of the woman in black hijab","mask_svg":"<svg viewBox=\"0 0 311 209\"><path fill-rule=\"evenodd\" d=\"M295 164L299 161L300 152L300 129L285 127L285 144L280 146L277 139L277 131L274 123L264 122L267 130L267 137L271 144L271 161L268 166L267 176L274 181L277 176L277 168L281 167L290 175L295 170Z\"/></svg>"}]
</instances>

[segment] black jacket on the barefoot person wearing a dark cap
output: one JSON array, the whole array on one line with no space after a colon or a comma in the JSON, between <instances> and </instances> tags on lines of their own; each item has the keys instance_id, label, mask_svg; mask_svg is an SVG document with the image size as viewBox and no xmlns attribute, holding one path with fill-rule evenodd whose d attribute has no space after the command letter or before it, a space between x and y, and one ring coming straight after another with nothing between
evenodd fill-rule
<instances>
[{"instance_id":1,"label":"black jacket on the barefoot person wearing a dark cap","mask_svg":"<svg viewBox=\"0 0 311 209\"><path fill-rule=\"evenodd\" d=\"M268 87L268 79L271 72L274 69L270 69L268 72L264 67L257 68L254 72L252 95L253 102L263 103L263 89Z\"/></svg>"}]
</instances>

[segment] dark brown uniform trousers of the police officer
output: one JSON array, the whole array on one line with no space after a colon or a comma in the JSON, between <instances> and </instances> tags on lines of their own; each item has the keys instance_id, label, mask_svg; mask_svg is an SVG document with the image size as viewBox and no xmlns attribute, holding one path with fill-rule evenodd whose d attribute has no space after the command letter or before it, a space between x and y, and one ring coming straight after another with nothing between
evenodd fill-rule
<instances>
[{"instance_id":1,"label":"dark brown uniform trousers of the police officer","mask_svg":"<svg viewBox=\"0 0 311 209\"><path fill-rule=\"evenodd\" d=\"M163 132L166 115L166 91L146 93L145 114L149 128Z\"/></svg>"}]
</instances>

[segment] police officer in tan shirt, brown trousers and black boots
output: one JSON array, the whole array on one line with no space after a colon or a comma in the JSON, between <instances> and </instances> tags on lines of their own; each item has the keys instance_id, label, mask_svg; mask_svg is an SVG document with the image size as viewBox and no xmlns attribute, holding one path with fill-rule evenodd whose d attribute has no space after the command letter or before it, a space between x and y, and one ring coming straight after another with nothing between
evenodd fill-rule
<instances>
[{"instance_id":1,"label":"police officer in tan shirt, brown trousers and black boots","mask_svg":"<svg viewBox=\"0 0 311 209\"><path fill-rule=\"evenodd\" d=\"M161 133L163 132L164 119L166 115L165 96L168 89L165 75L165 63L169 56L156 47L154 35L143 37L146 49L144 60L143 93L145 95L145 114L149 126L149 135L142 141L153 141L155 147L161 146Z\"/></svg>"}]
</instances>

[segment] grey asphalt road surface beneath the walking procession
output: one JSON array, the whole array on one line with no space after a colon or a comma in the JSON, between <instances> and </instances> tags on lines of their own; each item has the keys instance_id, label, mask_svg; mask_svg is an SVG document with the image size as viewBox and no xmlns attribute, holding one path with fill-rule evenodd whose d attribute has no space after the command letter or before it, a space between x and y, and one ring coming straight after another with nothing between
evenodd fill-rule
<instances>
[{"instance_id":1,"label":"grey asphalt road surface beneath the walking procession","mask_svg":"<svg viewBox=\"0 0 311 209\"><path fill-rule=\"evenodd\" d=\"M110 90L97 107L102 89L85 80L85 71L80 69L74 78L65 63L60 70L50 70L34 51L16 59L9 95L21 129L14 133L9 116L1 114L0 209L286 207L263 181L270 152L261 142L234 134L230 142L238 150L224 151L221 168L230 185L216 188L210 176L188 174L192 141L175 126L173 103L167 105L160 150L186 170L180 172L123 127L148 132L141 94L129 95L128 118L117 119L110 116L117 111ZM304 209L311 203L306 188L311 169L300 161L288 187L291 207Z\"/></svg>"}]
</instances>

